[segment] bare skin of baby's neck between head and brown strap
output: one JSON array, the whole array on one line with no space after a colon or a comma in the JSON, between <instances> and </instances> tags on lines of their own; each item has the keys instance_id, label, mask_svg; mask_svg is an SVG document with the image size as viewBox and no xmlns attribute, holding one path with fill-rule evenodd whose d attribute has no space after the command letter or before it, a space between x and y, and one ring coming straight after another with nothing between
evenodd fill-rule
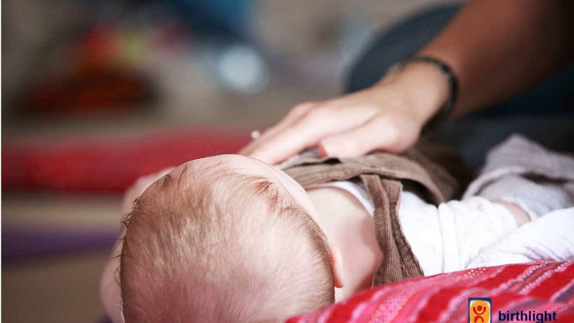
<instances>
[{"instance_id":1,"label":"bare skin of baby's neck between head and brown strap","mask_svg":"<svg viewBox=\"0 0 574 323\"><path fill-rule=\"evenodd\" d=\"M347 191L324 187L307 193L319 212L319 226L342 253L344 287L335 290L336 301L342 301L369 288L382 262L373 217Z\"/></svg>"}]
</instances>

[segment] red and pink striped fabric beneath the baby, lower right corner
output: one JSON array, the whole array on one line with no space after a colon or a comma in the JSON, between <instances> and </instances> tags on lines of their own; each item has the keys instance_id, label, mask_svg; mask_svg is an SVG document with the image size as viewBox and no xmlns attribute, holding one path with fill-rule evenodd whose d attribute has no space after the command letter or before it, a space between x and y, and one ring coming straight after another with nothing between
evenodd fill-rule
<instances>
[{"instance_id":1,"label":"red and pink striped fabric beneath the baby, lower right corner","mask_svg":"<svg viewBox=\"0 0 574 323\"><path fill-rule=\"evenodd\" d=\"M574 322L574 262L509 264L404 280L287 322L466 323L469 297L492 298L492 322L499 321L498 311L521 310L556 312L557 322Z\"/></svg>"}]
</instances>

